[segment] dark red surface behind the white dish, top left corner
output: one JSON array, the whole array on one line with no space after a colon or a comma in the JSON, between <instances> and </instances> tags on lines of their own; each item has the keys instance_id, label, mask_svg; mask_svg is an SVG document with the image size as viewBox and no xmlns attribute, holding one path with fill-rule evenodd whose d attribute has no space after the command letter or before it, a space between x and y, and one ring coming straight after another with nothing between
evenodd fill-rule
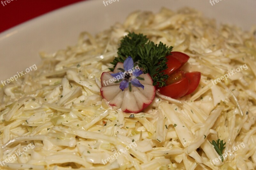
<instances>
[{"instance_id":1,"label":"dark red surface behind the white dish, top left corner","mask_svg":"<svg viewBox=\"0 0 256 170\"><path fill-rule=\"evenodd\" d=\"M6 1L6 5L4 4ZM85 0L0 0L0 33L55 9ZM3 4L2 4L3 2Z\"/></svg>"}]
</instances>

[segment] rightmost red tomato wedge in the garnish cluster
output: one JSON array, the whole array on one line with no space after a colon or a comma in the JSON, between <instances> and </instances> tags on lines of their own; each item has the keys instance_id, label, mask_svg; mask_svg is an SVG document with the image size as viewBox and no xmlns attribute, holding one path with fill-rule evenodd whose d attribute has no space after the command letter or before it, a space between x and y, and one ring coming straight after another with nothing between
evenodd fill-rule
<instances>
[{"instance_id":1,"label":"rightmost red tomato wedge in the garnish cluster","mask_svg":"<svg viewBox=\"0 0 256 170\"><path fill-rule=\"evenodd\" d=\"M185 73L185 77L188 79L189 89L186 95L194 92L199 85L201 73L200 72L188 72Z\"/></svg>"}]
</instances>

